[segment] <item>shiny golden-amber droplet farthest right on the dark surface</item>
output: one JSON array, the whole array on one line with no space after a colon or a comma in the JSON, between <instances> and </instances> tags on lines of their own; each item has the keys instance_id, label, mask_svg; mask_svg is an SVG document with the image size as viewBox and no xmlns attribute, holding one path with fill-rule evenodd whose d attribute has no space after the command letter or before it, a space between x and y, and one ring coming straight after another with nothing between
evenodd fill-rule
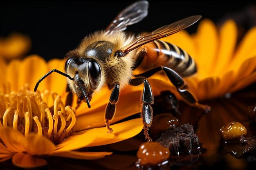
<instances>
[{"instance_id":1,"label":"shiny golden-amber droplet farthest right on the dark surface","mask_svg":"<svg viewBox=\"0 0 256 170\"><path fill-rule=\"evenodd\" d=\"M224 140L232 140L239 138L241 135L246 135L247 129L241 123L232 121L226 126L223 126L220 132Z\"/></svg>"}]
</instances>

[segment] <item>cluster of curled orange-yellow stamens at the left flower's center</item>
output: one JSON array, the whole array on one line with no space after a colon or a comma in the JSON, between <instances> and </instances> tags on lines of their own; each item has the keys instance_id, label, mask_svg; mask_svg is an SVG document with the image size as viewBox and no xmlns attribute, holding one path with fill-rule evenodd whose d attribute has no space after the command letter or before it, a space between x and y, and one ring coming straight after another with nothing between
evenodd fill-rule
<instances>
[{"instance_id":1,"label":"cluster of curled orange-yellow stamens at the left flower's center","mask_svg":"<svg viewBox=\"0 0 256 170\"><path fill-rule=\"evenodd\" d=\"M43 99L52 95L54 106L48 107ZM46 100L47 101L47 100ZM61 143L72 135L76 117L75 108L64 106L56 93L33 92L25 86L19 93L9 93L9 88L0 92L0 128L11 127L25 137L29 133L43 135L54 144Z\"/></svg>"}]
</instances>

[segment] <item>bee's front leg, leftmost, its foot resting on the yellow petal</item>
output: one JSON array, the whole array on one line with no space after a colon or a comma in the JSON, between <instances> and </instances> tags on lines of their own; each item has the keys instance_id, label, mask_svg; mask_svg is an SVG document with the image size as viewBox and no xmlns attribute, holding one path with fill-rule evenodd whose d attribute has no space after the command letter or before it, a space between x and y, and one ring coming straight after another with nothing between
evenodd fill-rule
<instances>
[{"instance_id":1,"label":"bee's front leg, leftmost, its foot resting on the yellow petal","mask_svg":"<svg viewBox=\"0 0 256 170\"><path fill-rule=\"evenodd\" d=\"M110 128L110 121L114 118L116 113L116 104L119 99L119 82L115 82L112 86L114 86L112 93L109 98L109 103L105 110L105 124L108 128L108 133L111 133L113 131L112 128Z\"/></svg>"}]
</instances>

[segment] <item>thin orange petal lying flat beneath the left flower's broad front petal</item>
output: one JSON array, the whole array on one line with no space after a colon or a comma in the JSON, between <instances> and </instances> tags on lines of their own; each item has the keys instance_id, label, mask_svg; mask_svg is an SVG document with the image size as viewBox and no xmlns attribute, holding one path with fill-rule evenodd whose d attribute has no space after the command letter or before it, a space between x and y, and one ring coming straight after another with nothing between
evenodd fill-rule
<instances>
[{"instance_id":1,"label":"thin orange petal lying flat beneath the left flower's broad front petal","mask_svg":"<svg viewBox=\"0 0 256 170\"><path fill-rule=\"evenodd\" d=\"M73 159L100 159L106 155L111 155L112 152L77 152L77 151L67 151L67 152L58 152L54 156L58 157L67 157Z\"/></svg>"}]
</instances>

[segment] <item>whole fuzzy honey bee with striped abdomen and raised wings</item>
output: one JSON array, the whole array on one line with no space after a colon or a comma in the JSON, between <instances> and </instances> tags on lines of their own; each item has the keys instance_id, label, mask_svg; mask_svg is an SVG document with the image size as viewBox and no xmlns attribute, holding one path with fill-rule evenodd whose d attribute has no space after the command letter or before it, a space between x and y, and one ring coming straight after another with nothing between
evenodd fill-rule
<instances>
[{"instance_id":1,"label":"whole fuzzy honey bee with striped abdomen and raised wings","mask_svg":"<svg viewBox=\"0 0 256 170\"><path fill-rule=\"evenodd\" d=\"M153 109L150 105L154 103L148 82L151 75L163 72L185 102L209 110L209 106L198 103L182 78L197 72L193 58L176 45L159 40L186 29L202 16L190 16L137 37L124 32L126 26L141 21L147 14L148 1L137 1L126 7L104 31L96 31L86 36L76 49L65 55L65 73L56 69L49 71L38 80L34 91L45 77L56 72L67 77L67 84L72 93L90 108L92 94L107 85L112 89L112 93L105 110L105 123L108 133L111 133L110 121L115 116L121 89L127 84L144 84L141 117L144 135L148 141L152 141L148 130L153 119ZM135 69L141 69L144 73L133 75Z\"/></svg>"}]
</instances>

